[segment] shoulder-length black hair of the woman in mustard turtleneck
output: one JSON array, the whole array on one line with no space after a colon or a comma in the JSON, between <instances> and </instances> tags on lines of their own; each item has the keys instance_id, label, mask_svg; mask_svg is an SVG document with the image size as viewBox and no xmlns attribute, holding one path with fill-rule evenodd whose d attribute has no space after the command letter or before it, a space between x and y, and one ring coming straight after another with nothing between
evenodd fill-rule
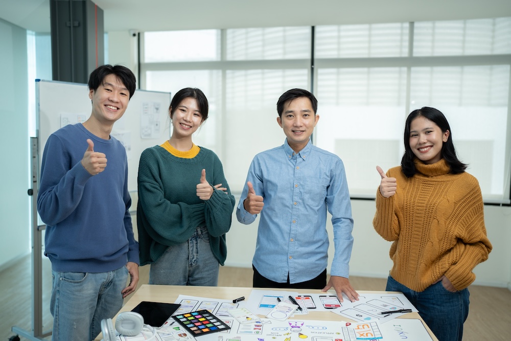
<instances>
[{"instance_id":1,"label":"shoulder-length black hair of the woman in mustard turtleneck","mask_svg":"<svg viewBox=\"0 0 511 341\"><path fill-rule=\"evenodd\" d=\"M410 115L408 115L406 119L403 138L405 153L401 159L401 168L403 173L407 177L412 177L417 172L415 164L413 163L415 154L413 154L413 151L410 147L410 125L413 120L420 116L430 120L431 122L434 122L440 128L440 130L442 130L443 133L449 130L447 142L442 144L442 150L440 151L442 153L441 156L449 165L451 174L463 173L467 169L468 165L463 164L458 160L458 157L456 156L456 150L454 149L454 144L452 142L452 131L451 127L449 126L449 122L447 122L446 117L440 110L427 106L422 107L421 109L413 110L410 112Z\"/></svg>"}]
</instances>

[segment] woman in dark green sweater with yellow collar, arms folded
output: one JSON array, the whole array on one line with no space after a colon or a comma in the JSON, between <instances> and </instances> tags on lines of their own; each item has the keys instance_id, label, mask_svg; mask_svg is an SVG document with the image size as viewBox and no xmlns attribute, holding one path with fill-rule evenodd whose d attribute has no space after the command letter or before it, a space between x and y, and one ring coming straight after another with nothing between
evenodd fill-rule
<instances>
[{"instance_id":1,"label":"woman in dark green sweater with yellow collar, arms folded","mask_svg":"<svg viewBox=\"0 0 511 341\"><path fill-rule=\"evenodd\" d=\"M140 265L151 264L149 284L218 283L235 199L218 156L192 142L207 112L200 89L179 90L169 107L170 140L140 157L136 220Z\"/></svg>"}]
</instances>

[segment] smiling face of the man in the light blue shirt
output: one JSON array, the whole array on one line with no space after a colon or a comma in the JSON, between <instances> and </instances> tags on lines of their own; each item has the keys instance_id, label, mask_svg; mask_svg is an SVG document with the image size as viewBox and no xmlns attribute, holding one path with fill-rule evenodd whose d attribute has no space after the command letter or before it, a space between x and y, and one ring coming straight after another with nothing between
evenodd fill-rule
<instances>
[{"instance_id":1,"label":"smiling face of the man in the light blue shirt","mask_svg":"<svg viewBox=\"0 0 511 341\"><path fill-rule=\"evenodd\" d=\"M284 130L288 144L295 153L309 143L318 120L319 116L315 115L311 101L307 97L286 102L282 117L277 117L277 123Z\"/></svg>"}]
</instances>

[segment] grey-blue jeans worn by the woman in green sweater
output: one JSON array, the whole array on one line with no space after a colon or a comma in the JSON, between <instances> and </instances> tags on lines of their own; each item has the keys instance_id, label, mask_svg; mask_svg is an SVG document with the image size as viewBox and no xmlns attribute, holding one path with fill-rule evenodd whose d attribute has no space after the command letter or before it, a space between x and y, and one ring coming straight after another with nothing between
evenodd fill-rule
<instances>
[{"instance_id":1,"label":"grey-blue jeans worn by the woman in green sweater","mask_svg":"<svg viewBox=\"0 0 511 341\"><path fill-rule=\"evenodd\" d=\"M207 229L197 228L188 241L170 246L149 271L149 284L216 286L220 264Z\"/></svg>"}]
</instances>

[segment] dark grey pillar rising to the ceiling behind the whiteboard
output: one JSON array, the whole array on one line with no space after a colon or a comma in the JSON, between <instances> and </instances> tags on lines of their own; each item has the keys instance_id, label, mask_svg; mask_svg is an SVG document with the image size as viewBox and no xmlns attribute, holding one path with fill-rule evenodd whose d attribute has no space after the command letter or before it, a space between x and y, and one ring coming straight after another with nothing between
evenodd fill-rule
<instances>
[{"instance_id":1,"label":"dark grey pillar rising to the ceiling behind the whiteboard","mask_svg":"<svg viewBox=\"0 0 511 341\"><path fill-rule=\"evenodd\" d=\"M87 83L105 63L103 10L90 0L50 0L53 80Z\"/></svg>"}]
</instances>

